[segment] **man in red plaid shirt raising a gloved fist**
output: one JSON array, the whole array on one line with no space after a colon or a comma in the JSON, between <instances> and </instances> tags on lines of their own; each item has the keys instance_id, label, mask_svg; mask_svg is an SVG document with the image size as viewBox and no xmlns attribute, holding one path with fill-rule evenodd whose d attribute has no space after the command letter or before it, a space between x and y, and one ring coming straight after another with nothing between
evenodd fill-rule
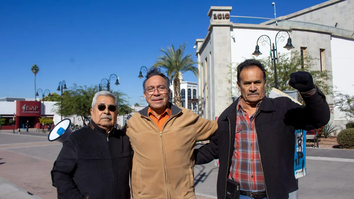
<instances>
[{"instance_id":1,"label":"man in red plaid shirt raising a gloved fist","mask_svg":"<svg viewBox=\"0 0 354 199\"><path fill-rule=\"evenodd\" d=\"M330 120L325 95L310 73L290 75L306 106L287 97L265 97L262 63L247 59L237 67L241 96L218 118L210 143L195 149L196 164L219 159L218 198L287 199L298 189L294 175L295 130L312 130Z\"/></svg>"}]
</instances>

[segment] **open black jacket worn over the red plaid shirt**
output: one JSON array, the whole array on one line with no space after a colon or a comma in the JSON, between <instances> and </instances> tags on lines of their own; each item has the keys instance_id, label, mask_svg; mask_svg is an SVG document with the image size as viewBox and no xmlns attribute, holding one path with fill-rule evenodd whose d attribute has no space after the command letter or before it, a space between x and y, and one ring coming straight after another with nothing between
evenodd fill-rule
<instances>
[{"instance_id":1,"label":"open black jacket worn over the red plaid shirt","mask_svg":"<svg viewBox=\"0 0 354 199\"><path fill-rule=\"evenodd\" d=\"M218 130L210 143L194 151L196 164L219 159L218 199L224 199L226 194L239 99L219 116ZM295 130L316 129L330 120L330 109L320 90L303 99L306 106L287 97L264 97L256 114L255 127L268 199L287 199L289 193L298 189L294 174Z\"/></svg>"}]
</instances>

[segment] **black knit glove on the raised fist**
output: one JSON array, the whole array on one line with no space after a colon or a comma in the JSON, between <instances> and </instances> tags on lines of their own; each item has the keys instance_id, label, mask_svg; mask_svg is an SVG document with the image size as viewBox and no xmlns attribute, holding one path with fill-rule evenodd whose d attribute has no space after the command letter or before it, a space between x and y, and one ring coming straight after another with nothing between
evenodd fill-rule
<instances>
[{"instance_id":1,"label":"black knit glove on the raised fist","mask_svg":"<svg viewBox=\"0 0 354 199\"><path fill-rule=\"evenodd\" d=\"M302 93L308 92L315 88L312 75L306 71L291 73L289 85Z\"/></svg>"}]
</instances>

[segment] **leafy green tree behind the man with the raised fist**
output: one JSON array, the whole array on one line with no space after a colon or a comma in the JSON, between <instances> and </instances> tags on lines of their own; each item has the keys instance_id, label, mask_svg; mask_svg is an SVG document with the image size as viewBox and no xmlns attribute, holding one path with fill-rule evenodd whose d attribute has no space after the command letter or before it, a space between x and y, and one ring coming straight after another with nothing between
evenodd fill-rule
<instances>
[{"instance_id":1,"label":"leafy green tree behind the man with the raised fist","mask_svg":"<svg viewBox=\"0 0 354 199\"><path fill-rule=\"evenodd\" d=\"M257 59L255 57L253 58ZM266 75L267 75L266 95L268 96L269 92L273 89L273 87L275 87L273 61L271 60L270 56L262 59L257 59L257 60L263 63L266 69ZM294 88L289 85L290 74L295 73L297 71L307 71L312 75L314 84L319 89L321 89L321 91L325 95L333 96L333 86L326 83L327 80L332 79L332 75L329 70L323 70L323 71L313 70L313 67L316 66L316 60L318 59L312 57L308 53L302 59L300 52L294 50L287 53L278 53L278 62L276 64L278 90L280 91L294 90ZM302 63L305 63L304 67L302 67L303 65ZM232 65L234 66L234 64ZM235 83L236 75L237 75L236 67L232 67L230 74L232 74L233 77L232 81L233 83ZM303 102L300 94L298 96L298 101L301 103Z\"/></svg>"}]
</instances>

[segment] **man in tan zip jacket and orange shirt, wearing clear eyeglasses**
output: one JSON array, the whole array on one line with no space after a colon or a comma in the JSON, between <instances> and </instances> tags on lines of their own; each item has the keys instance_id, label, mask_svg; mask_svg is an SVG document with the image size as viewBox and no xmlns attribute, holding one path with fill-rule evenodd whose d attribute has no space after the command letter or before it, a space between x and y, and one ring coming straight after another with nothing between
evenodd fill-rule
<instances>
[{"instance_id":1,"label":"man in tan zip jacket and orange shirt, wearing clear eyeglasses","mask_svg":"<svg viewBox=\"0 0 354 199\"><path fill-rule=\"evenodd\" d=\"M143 83L149 106L127 122L134 149L133 198L196 198L193 149L196 142L208 140L217 123L169 103L169 87L169 78L158 68L150 69Z\"/></svg>"}]
</instances>

